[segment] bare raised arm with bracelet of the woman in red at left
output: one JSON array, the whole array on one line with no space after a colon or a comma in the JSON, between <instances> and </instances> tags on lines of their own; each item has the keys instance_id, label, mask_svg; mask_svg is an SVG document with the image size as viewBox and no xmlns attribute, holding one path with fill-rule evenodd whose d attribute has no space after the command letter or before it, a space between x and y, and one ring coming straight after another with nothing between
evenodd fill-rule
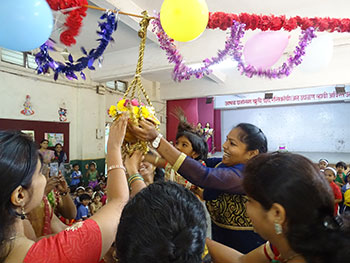
<instances>
[{"instance_id":1,"label":"bare raised arm with bracelet of the woman in red at left","mask_svg":"<svg viewBox=\"0 0 350 263\"><path fill-rule=\"evenodd\" d=\"M121 154L127 122L128 115L122 115L111 126L107 144L107 167L111 167L107 183L108 203L91 217L99 225L102 234L101 258L115 239L121 212L129 199Z\"/></svg>"}]
</instances>

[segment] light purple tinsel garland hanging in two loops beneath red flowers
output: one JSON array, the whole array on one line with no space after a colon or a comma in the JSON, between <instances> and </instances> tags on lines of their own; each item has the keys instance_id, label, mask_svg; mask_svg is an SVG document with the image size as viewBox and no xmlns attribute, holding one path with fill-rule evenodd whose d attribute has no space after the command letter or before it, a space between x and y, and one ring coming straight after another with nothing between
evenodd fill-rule
<instances>
[{"instance_id":1,"label":"light purple tinsel garland hanging in two loops beneath red flowers","mask_svg":"<svg viewBox=\"0 0 350 263\"><path fill-rule=\"evenodd\" d=\"M305 48L308 46L308 44L310 44L311 40L316 37L314 28L310 27L306 30L303 30L300 37L299 46L296 47L294 50L294 55L290 56L287 62L283 63L282 66L277 69L261 70L256 69L251 65L244 64L242 60L243 45L241 45L241 39L244 36L245 25L233 21L233 24L230 28L229 37L225 41L225 49L219 50L216 57L212 57L211 59L204 59L204 65L202 67L193 69L185 65L182 55L174 44L174 40L169 38L168 35L164 32L160 23L159 15L157 19L153 20L152 23L154 26L153 32L155 32L158 37L161 49L165 50L169 63L175 64L172 77L175 81L178 82L181 82L184 79L189 80L192 76L195 76L197 79L199 79L202 78L205 74L210 74L211 70L209 68L212 65L222 62L226 56L231 56L233 60L237 61L238 70L242 75L244 74L249 78L253 76L266 77L269 79L286 77L289 76L295 66L299 65L302 62L301 57L305 55Z\"/></svg>"}]
</instances>

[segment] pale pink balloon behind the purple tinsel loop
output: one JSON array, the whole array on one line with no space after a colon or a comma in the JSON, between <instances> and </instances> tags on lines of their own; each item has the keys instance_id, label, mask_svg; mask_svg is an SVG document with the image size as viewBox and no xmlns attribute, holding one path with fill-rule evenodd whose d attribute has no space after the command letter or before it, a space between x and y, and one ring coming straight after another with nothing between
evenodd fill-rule
<instances>
[{"instance_id":1,"label":"pale pink balloon behind the purple tinsel loop","mask_svg":"<svg viewBox=\"0 0 350 263\"><path fill-rule=\"evenodd\" d=\"M283 55L289 34L284 31L263 31L248 39L244 46L245 62L256 69L268 69Z\"/></svg>"}]
</instances>

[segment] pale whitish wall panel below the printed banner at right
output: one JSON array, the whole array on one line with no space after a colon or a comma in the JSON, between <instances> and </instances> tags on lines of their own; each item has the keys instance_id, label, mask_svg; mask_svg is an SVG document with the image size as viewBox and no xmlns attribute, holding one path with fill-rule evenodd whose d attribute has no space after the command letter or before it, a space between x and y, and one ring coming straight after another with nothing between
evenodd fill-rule
<instances>
[{"instance_id":1,"label":"pale whitish wall panel below the printed banner at right","mask_svg":"<svg viewBox=\"0 0 350 263\"><path fill-rule=\"evenodd\" d=\"M350 103L242 108L222 111L222 143L240 122L252 123L265 133L269 151L285 145L312 161L350 162Z\"/></svg>"}]
</instances>

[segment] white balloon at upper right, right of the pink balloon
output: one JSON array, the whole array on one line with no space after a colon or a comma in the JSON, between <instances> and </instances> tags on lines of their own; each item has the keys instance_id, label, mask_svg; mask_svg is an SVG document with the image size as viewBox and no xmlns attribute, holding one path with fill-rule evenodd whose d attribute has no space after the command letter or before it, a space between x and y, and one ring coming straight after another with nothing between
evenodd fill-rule
<instances>
[{"instance_id":1,"label":"white balloon at upper right, right of the pink balloon","mask_svg":"<svg viewBox=\"0 0 350 263\"><path fill-rule=\"evenodd\" d=\"M333 47L332 34L317 35L306 47L299 69L304 72L316 72L327 68L333 57Z\"/></svg>"}]
</instances>

